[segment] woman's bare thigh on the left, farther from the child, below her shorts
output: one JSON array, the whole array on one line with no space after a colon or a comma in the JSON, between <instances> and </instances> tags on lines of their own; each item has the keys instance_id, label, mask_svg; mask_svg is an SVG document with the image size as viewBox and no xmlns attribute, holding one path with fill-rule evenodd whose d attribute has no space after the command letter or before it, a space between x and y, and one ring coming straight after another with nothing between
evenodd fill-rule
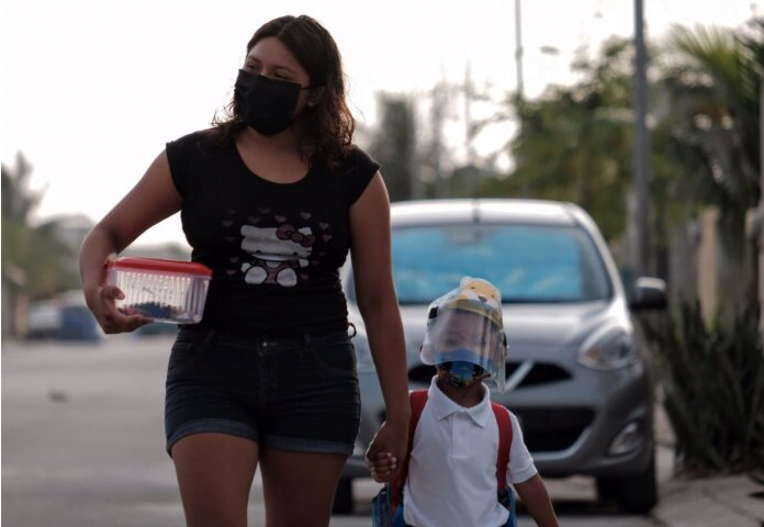
<instances>
[{"instance_id":1,"label":"woman's bare thigh on the left, farther from the child, below her shorts","mask_svg":"<svg viewBox=\"0 0 764 527\"><path fill-rule=\"evenodd\" d=\"M193 434L172 446L188 527L247 527L258 445L227 434Z\"/></svg>"}]
</instances>

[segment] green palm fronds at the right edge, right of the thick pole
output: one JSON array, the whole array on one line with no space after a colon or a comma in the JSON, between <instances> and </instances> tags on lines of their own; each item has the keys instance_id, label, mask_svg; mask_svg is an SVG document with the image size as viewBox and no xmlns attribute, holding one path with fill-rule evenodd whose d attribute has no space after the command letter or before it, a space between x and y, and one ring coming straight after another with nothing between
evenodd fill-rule
<instances>
[{"instance_id":1,"label":"green palm fronds at the right edge, right of the thick pole","mask_svg":"<svg viewBox=\"0 0 764 527\"><path fill-rule=\"evenodd\" d=\"M722 239L742 256L745 212L760 189L759 90L764 65L764 19L750 31L674 26L670 49L678 58L661 86L664 125L698 203L720 212Z\"/></svg>"}]
</instances>

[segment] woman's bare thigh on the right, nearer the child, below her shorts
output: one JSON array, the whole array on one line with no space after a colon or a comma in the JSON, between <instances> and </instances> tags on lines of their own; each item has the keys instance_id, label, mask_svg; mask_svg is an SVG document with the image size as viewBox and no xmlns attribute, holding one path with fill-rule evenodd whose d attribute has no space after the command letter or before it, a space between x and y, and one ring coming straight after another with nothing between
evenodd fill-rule
<instances>
[{"instance_id":1,"label":"woman's bare thigh on the right, nearer the child, below her shorts","mask_svg":"<svg viewBox=\"0 0 764 527\"><path fill-rule=\"evenodd\" d=\"M262 448L266 527L327 527L346 456Z\"/></svg>"}]
</instances>

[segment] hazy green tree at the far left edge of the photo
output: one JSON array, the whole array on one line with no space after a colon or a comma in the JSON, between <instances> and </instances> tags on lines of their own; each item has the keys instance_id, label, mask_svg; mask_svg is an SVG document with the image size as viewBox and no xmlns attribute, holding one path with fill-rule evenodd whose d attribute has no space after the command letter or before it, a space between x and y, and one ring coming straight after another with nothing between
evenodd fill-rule
<instances>
[{"instance_id":1,"label":"hazy green tree at the far left edge of the photo","mask_svg":"<svg viewBox=\"0 0 764 527\"><path fill-rule=\"evenodd\" d=\"M42 298L75 288L79 279L66 267L72 255L56 235L57 223L32 225L43 194L30 189L31 176L32 166L21 153L14 167L2 165L2 266L22 269L31 295Z\"/></svg>"}]
</instances>

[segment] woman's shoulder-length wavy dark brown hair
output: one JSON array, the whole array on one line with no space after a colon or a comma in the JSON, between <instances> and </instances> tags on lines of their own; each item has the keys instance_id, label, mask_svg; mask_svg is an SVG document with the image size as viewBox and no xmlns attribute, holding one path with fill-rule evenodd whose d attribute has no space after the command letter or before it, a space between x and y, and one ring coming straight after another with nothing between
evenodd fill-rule
<instances>
[{"instance_id":1,"label":"woman's shoulder-length wavy dark brown hair","mask_svg":"<svg viewBox=\"0 0 764 527\"><path fill-rule=\"evenodd\" d=\"M310 154L312 166L334 170L350 149L356 122L345 99L342 60L337 44L324 26L311 16L280 16L263 24L247 43L247 54L262 38L276 37L305 68L312 87L322 87L315 106L300 114L300 148ZM247 124L234 98L223 119L216 115L211 133L217 142L231 145Z\"/></svg>"}]
</instances>

